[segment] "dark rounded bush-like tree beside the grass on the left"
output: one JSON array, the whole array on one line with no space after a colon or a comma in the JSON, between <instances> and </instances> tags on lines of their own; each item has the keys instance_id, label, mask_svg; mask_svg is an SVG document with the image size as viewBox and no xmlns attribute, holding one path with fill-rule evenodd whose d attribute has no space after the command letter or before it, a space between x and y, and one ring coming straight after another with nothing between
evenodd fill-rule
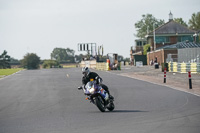
<instances>
[{"instance_id":1,"label":"dark rounded bush-like tree beside the grass on the left","mask_svg":"<svg viewBox=\"0 0 200 133\"><path fill-rule=\"evenodd\" d=\"M38 69L40 64L40 57L34 53L27 53L24 59L21 60L21 64L27 69Z\"/></svg>"}]
</instances>

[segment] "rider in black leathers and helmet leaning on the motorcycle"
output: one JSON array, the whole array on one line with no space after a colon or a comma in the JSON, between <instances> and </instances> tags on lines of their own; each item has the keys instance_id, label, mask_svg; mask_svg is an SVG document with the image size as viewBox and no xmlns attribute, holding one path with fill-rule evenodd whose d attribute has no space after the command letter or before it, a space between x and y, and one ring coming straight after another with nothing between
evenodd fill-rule
<instances>
[{"instance_id":1,"label":"rider in black leathers and helmet leaning on the motorcycle","mask_svg":"<svg viewBox=\"0 0 200 133\"><path fill-rule=\"evenodd\" d=\"M102 86L102 88L108 92L109 98L113 99L113 96L110 95L110 92L108 90L108 87L104 84L102 84L102 78L99 77L99 75L95 72L90 72L88 67L83 67L82 68L82 73L83 73L83 77L82 77L82 84L85 86L90 79L96 80L96 83L99 84L100 86ZM78 87L78 89L82 89L82 87Z\"/></svg>"}]
</instances>

